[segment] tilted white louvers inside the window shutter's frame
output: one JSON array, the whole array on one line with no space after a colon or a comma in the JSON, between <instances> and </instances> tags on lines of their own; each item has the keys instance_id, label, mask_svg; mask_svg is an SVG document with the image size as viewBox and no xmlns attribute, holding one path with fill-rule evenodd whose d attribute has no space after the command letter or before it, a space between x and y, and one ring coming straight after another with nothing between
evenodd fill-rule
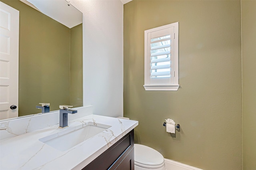
<instances>
[{"instance_id":1,"label":"tilted white louvers inside the window shutter's frame","mask_svg":"<svg viewBox=\"0 0 256 170\"><path fill-rule=\"evenodd\" d=\"M151 39L150 77L170 77L170 43L170 35Z\"/></svg>"}]
</instances>

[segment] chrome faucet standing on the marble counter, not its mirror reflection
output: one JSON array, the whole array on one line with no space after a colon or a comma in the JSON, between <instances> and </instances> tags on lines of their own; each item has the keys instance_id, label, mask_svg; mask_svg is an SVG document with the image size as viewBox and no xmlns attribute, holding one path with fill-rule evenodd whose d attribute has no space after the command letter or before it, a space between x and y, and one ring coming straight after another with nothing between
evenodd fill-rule
<instances>
[{"instance_id":1,"label":"chrome faucet standing on the marble counter, not its mirror reflection","mask_svg":"<svg viewBox=\"0 0 256 170\"><path fill-rule=\"evenodd\" d=\"M60 105L60 126L59 128L68 127L68 113L74 114L77 113L76 110L71 110L70 105Z\"/></svg>"}]
</instances>

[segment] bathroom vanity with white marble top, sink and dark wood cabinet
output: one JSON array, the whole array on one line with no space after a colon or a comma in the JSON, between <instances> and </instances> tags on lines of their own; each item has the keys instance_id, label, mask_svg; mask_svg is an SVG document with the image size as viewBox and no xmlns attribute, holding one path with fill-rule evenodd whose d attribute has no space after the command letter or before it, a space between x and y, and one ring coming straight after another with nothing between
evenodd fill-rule
<instances>
[{"instance_id":1,"label":"bathroom vanity with white marble top, sink and dark wood cabinet","mask_svg":"<svg viewBox=\"0 0 256 170\"><path fill-rule=\"evenodd\" d=\"M0 169L134 169L133 129L138 121L69 115L68 127L62 129L58 114L0 122Z\"/></svg>"}]
</instances>

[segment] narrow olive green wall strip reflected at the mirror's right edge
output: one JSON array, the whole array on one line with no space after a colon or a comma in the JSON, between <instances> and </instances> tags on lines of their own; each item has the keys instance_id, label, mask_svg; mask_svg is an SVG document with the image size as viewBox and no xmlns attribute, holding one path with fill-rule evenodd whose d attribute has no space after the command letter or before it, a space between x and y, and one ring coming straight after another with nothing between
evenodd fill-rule
<instances>
[{"instance_id":1,"label":"narrow olive green wall strip reflected at the mirror's right edge","mask_svg":"<svg viewBox=\"0 0 256 170\"><path fill-rule=\"evenodd\" d=\"M83 105L83 24L70 29L70 105Z\"/></svg>"}]
</instances>

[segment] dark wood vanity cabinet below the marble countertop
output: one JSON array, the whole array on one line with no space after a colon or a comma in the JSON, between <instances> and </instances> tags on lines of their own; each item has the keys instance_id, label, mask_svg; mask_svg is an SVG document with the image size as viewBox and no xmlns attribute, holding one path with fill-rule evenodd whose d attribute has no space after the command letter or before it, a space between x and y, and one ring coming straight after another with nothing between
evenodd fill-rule
<instances>
[{"instance_id":1,"label":"dark wood vanity cabinet below the marble countertop","mask_svg":"<svg viewBox=\"0 0 256 170\"><path fill-rule=\"evenodd\" d=\"M134 170L134 130L131 130L82 170Z\"/></svg>"}]
</instances>

